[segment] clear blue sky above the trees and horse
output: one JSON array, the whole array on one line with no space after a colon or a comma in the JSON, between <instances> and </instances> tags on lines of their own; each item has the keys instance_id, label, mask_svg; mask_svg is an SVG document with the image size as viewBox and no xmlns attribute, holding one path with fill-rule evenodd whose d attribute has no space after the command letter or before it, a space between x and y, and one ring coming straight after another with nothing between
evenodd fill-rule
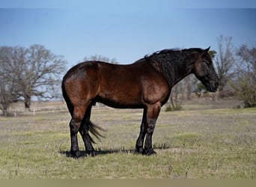
<instances>
[{"instance_id":1,"label":"clear blue sky above the trees and horse","mask_svg":"<svg viewBox=\"0 0 256 187\"><path fill-rule=\"evenodd\" d=\"M256 1L1 1L0 46L43 45L67 67L91 55L130 64L160 49L256 46Z\"/></svg>"}]
</instances>

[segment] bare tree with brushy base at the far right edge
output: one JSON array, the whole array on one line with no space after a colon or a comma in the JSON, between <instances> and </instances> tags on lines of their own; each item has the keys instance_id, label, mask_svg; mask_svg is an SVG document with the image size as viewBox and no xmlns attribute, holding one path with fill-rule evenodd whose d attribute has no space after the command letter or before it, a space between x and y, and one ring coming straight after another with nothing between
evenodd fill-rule
<instances>
[{"instance_id":1,"label":"bare tree with brushy base at the far right edge","mask_svg":"<svg viewBox=\"0 0 256 187\"><path fill-rule=\"evenodd\" d=\"M243 45L237 51L237 80L233 82L238 99L245 107L256 106L256 47Z\"/></svg>"}]
</instances>

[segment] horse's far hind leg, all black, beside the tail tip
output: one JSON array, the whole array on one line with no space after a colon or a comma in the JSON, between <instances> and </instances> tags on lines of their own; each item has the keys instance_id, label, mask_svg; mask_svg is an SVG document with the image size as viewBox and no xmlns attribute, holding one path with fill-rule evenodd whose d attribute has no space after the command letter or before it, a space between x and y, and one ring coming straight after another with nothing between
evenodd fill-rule
<instances>
[{"instance_id":1,"label":"horse's far hind leg, all black, beside the tail tip","mask_svg":"<svg viewBox=\"0 0 256 187\"><path fill-rule=\"evenodd\" d=\"M82 120L81 127L79 129L80 134L82 135L82 139L85 143L85 150L87 153L91 153L91 156L95 156L96 152L94 150L93 145L91 144L91 136L89 135L89 126L90 126L90 117L91 117L91 107L92 104L90 104L85 112L85 116Z\"/></svg>"}]
</instances>

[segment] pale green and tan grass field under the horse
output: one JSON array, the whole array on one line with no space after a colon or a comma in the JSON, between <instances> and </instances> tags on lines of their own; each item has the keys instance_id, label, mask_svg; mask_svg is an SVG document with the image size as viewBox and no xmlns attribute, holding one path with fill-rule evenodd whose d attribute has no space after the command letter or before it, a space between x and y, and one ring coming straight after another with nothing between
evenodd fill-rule
<instances>
[{"instance_id":1,"label":"pale green and tan grass field under the horse","mask_svg":"<svg viewBox=\"0 0 256 187\"><path fill-rule=\"evenodd\" d=\"M82 160L67 156L67 111L0 117L0 178L256 178L256 108L162 110L156 156L133 153L141 115L94 108L91 120L107 129L106 138L94 146L98 156ZM80 136L79 147L85 150Z\"/></svg>"}]
</instances>

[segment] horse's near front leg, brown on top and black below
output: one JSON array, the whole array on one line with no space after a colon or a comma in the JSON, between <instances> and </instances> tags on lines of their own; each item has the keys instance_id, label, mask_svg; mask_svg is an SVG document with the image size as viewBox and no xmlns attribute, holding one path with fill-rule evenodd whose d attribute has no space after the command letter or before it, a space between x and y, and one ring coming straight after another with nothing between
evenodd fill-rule
<instances>
[{"instance_id":1,"label":"horse's near front leg, brown on top and black below","mask_svg":"<svg viewBox=\"0 0 256 187\"><path fill-rule=\"evenodd\" d=\"M150 105L147 108L147 129L146 139L144 144L144 154L150 156L156 154L152 147L152 135L156 126L156 119L161 109L161 103L157 102L155 105Z\"/></svg>"}]
</instances>

